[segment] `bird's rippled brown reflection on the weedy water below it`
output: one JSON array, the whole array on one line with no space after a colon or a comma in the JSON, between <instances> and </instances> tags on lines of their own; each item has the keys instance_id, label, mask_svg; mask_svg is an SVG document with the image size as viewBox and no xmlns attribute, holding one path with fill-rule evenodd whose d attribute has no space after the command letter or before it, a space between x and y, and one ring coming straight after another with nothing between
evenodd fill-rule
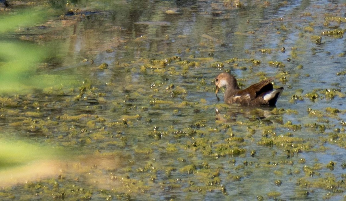
<instances>
[{"instance_id":1,"label":"bird's rippled brown reflection on the weedy water below it","mask_svg":"<svg viewBox=\"0 0 346 201\"><path fill-rule=\"evenodd\" d=\"M222 123L232 123L241 121L243 118L249 121L258 121L264 124L283 124L281 115L273 114L275 107L229 107L227 111L220 111L215 108L215 119Z\"/></svg>"}]
</instances>

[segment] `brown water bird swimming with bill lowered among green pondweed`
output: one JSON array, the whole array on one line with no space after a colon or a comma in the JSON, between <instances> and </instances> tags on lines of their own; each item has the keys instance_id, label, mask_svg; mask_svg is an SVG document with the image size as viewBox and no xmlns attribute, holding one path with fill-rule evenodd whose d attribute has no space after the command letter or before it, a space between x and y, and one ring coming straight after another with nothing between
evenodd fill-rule
<instances>
[{"instance_id":1,"label":"brown water bird swimming with bill lowered among green pondweed","mask_svg":"<svg viewBox=\"0 0 346 201\"><path fill-rule=\"evenodd\" d=\"M240 90L236 78L229 73L220 73L215 78L216 97L221 87L226 87L224 101L227 104L238 103L244 106L275 106L283 87L273 90L272 81L269 78ZM219 99L219 97L218 97Z\"/></svg>"}]
</instances>

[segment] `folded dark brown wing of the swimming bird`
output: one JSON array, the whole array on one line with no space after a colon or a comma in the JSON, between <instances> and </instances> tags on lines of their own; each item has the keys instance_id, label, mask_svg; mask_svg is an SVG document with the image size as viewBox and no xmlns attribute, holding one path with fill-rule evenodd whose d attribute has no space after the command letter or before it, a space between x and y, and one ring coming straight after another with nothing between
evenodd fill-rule
<instances>
[{"instance_id":1,"label":"folded dark brown wing of the swimming bird","mask_svg":"<svg viewBox=\"0 0 346 201\"><path fill-rule=\"evenodd\" d=\"M251 86L249 86L246 89L243 90L239 90L235 96L248 96L249 95L249 99L253 100L256 97L258 97L259 95L268 92L268 91L272 91L273 90L273 85L272 85L272 81L274 78L269 78L266 80L263 80L262 82L253 84Z\"/></svg>"}]
</instances>

